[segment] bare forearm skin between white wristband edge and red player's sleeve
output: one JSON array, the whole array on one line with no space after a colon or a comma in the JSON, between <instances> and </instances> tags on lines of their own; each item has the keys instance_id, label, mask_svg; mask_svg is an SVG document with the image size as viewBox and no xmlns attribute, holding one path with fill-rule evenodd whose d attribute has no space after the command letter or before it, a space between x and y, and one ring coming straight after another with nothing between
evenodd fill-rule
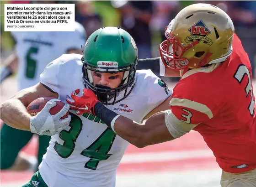
<instances>
[{"instance_id":1,"label":"bare forearm skin between white wristband edge and red player's sleeve","mask_svg":"<svg viewBox=\"0 0 256 187\"><path fill-rule=\"evenodd\" d=\"M164 112L154 114L145 124L119 116L115 121L114 131L124 140L139 148L174 140L165 125Z\"/></svg>"}]
</instances>

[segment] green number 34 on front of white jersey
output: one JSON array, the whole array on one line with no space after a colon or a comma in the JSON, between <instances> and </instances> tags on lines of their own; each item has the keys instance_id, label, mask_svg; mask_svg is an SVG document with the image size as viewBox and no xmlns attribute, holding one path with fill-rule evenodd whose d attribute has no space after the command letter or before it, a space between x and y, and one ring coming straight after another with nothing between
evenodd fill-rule
<instances>
[{"instance_id":1,"label":"green number 34 on front of white jersey","mask_svg":"<svg viewBox=\"0 0 256 187\"><path fill-rule=\"evenodd\" d=\"M59 138L63 140L63 145L58 142L54 145L54 150L62 158L68 158L75 149L75 141L78 138L83 123L75 114L69 113L71 115L71 121L69 123L69 131L62 130L59 133ZM112 154L108 154L112 144L115 140L116 134L110 130L106 129L89 147L84 149L80 154L90 158L89 161L85 163L85 168L96 170L99 161L105 161Z\"/></svg>"}]
</instances>

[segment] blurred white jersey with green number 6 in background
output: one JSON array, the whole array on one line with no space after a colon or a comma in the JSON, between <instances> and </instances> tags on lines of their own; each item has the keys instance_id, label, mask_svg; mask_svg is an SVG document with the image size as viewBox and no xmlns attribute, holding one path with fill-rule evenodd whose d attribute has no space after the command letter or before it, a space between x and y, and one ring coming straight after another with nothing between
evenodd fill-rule
<instances>
[{"instance_id":1,"label":"blurred white jersey with green number 6 in background","mask_svg":"<svg viewBox=\"0 0 256 187\"><path fill-rule=\"evenodd\" d=\"M81 49L85 45L85 29L76 22L73 32L11 32L16 40L19 60L17 82L19 89L39 82L39 75L46 65L69 49Z\"/></svg>"}]
</instances>

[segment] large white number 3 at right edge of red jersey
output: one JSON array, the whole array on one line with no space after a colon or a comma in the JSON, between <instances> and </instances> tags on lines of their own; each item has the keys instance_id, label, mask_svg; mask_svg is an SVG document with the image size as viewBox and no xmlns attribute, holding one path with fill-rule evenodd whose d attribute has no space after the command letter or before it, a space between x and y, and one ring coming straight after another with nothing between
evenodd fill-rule
<instances>
[{"instance_id":1,"label":"large white number 3 at right edge of red jersey","mask_svg":"<svg viewBox=\"0 0 256 187\"><path fill-rule=\"evenodd\" d=\"M253 100L253 91L252 91L252 83L251 83L251 76L250 76L250 72L248 70L248 68L244 65L244 64L240 64L234 74L234 78L238 81L238 83L242 83L243 79L245 78L245 75L247 75L248 77L248 83L245 87L245 93L246 93L246 98L248 97L249 93L251 96L251 102L248 106L248 110L251 114L251 116L253 116L254 114L254 100Z\"/></svg>"}]
</instances>

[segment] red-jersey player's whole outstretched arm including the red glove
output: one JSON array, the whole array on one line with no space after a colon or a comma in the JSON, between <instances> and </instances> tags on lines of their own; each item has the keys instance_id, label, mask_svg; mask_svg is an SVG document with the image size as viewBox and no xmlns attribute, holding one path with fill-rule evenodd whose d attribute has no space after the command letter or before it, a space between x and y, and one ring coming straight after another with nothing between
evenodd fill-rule
<instances>
[{"instance_id":1,"label":"red-jersey player's whole outstretched arm including the red glove","mask_svg":"<svg viewBox=\"0 0 256 187\"><path fill-rule=\"evenodd\" d=\"M85 88L82 96L78 96L78 93L79 90L76 90L71 94L71 98L67 97L66 101L70 104L70 109L76 110L79 115L92 112L117 135L139 148L174 140L198 125L191 124L189 116L186 118L187 121L178 119L171 109L158 112L145 124L140 124L107 109L91 89ZM169 102L169 99L162 103L163 106L166 106L167 101ZM169 108L168 105L165 108Z\"/></svg>"}]
</instances>

